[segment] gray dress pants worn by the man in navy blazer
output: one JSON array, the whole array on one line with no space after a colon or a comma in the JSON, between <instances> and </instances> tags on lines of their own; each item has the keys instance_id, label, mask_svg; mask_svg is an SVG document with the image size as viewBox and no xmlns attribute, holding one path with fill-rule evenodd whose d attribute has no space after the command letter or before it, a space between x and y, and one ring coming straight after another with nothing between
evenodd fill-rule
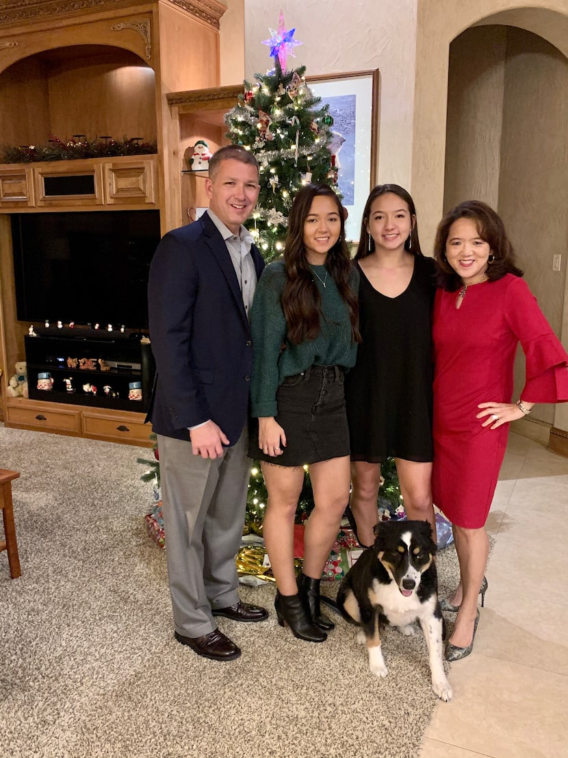
<instances>
[{"instance_id":1,"label":"gray dress pants worn by the man in navy blazer","mask_svg":"<svg viewBox=\"0 0 568 758\"><path fill-rule=\"evenodd\" d=\"M158 434L167 573L178 634L217 628L211 608L239 602L235 556L245 521L251 462L248 428L214 460L194 456L188 440Z\"/></svg>"}]
</instances>

